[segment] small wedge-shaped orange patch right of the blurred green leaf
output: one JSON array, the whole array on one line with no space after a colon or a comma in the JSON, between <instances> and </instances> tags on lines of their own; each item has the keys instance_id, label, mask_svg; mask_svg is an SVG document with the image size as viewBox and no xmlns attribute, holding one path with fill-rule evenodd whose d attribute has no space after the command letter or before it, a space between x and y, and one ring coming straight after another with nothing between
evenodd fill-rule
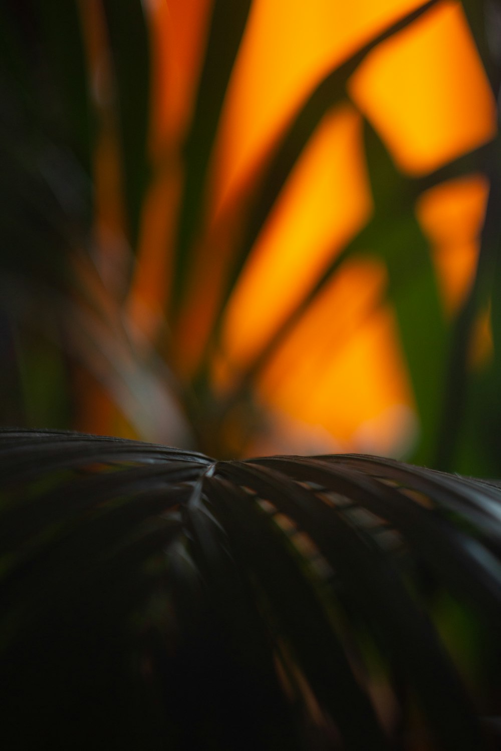
<instances>
[{"instance_id":1,"label":"small wedge-shaped orange patch right of the blurred green leaf","mask_svg":"<svg viewBox=\"0 0 501 751\"><path fill-rule=\"evenodd\" d=\"M485 177L472 175L437 185L416 204L449 313L458 309L472 284L488 189Z\"/></svg>"}]
</instances>

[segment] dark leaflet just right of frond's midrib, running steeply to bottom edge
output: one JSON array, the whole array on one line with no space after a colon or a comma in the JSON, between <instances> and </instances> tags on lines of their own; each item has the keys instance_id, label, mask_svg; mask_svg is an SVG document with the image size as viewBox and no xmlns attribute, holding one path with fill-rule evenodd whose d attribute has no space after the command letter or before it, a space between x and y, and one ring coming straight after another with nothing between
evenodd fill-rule
<instances>
[{"instance_id":1,"label":"dark leaflet just right of frond's midrib, running steeply to bottom edge","mask_svg":"<svg viewBox=\"0 0 501 751\"><path fill-rule=\"evenodd\" d=\"M346 747L363 749L371 743L384 748L373 709L354 679L333 626L269 520L255 501L219 480L217 474L207 483L206 493L222 514L234 555L264 592L278 633L290 641L301 670L321 707L336 722Z\"/></svg>"}]
</instances>

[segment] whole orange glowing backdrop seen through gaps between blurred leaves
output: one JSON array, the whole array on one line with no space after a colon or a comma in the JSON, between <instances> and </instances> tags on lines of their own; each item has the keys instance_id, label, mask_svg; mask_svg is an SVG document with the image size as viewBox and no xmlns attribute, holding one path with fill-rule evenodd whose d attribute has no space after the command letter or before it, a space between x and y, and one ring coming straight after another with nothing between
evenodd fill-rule
<instances>
[{"instance_id":1,"label":"whole orange glowing backdrop seen through gaps between blurred leaves","mask_svg":"<svg viewBox=\"0 0 501 751\"><path fill-rule=\"evenodd\" d=\"M237 385L246 366L368 221L373 202L361 147L362 116L412 175L434 170L493 137L493 96L472 35L460 3L444 0L370 53L349 82L355 106L345 102L318 124L234 286L221 339L212 341L249 200L273 146L325 75L422 3L252 3L211 156L204 222L191 249L195 261L179 317L169 321L169 366L181 381L189 383L207 357L216 391ZM142 354L151 351L148 346L164 324L181 146L213 0L145 0L145 5L152 40L149 155L155 179L143 204L126 309L134 345L146 345L137 348ZM92 0L89 6L98 8ZM96 99L104 123L95 154L96 225L110 254L123 235L122 176L113 122L106 119L112 102L102 96L109 81L98 80L103 70L106 74L100 58L107 43L98 32L91 37L90 68L101 83ZM450 315L475 272L486 196L485 179L470 176L430 189L416 204ZM297 451L318 443L319 451L323 445L403 454L415 437L417 418L394 312L384 301L386 285L385 267L376 259L343 263L258 375L254 396L265 406L271 428L267 436L250 436L244 451L260 453L259 441L277 442L282 430L289 445L294 433ZM141 336L134 337L137 333ZM472 367L490 357L489 337L487 315L472 335ZM222 434L222 444L231 447L233 440L236 453L249 442L249 436L240 436L238 426L246 419L238 409L225 415L221 427L228 433ZM106 418L114 419L111 413ZM264 452L275 450L276 443Z\"/></svg>"}]
</instances>

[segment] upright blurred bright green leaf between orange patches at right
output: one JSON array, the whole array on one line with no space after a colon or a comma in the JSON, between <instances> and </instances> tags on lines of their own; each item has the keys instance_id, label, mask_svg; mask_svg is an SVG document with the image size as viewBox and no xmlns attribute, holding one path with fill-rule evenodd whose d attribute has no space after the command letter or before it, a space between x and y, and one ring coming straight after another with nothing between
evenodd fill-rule
<instances>
[{"instance_id":1,"label":"upright blurred bright green leaf between orange patches at right","mask_svg":"<svg viewBox=\"0 0 501 751\"><path fill-rule=\"evenodd\" d=\"M429 463L444 391L447 332L430 248L415 219L412 189L385 146L365 123L375 218L357 238L388 267L388 298L394 303L420 420L415 461ZM407 195L406 195L407 194Z\"/></svg>"}]
</instances>

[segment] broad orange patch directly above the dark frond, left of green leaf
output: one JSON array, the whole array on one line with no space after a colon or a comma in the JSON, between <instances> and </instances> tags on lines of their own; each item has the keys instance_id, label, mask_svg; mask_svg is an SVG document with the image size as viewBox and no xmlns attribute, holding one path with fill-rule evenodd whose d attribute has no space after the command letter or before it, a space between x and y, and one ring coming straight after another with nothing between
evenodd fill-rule
<instances>
[{"instance_id":1,"label":"broad orange patch directly above the dark frond, left of green leaf","mask_svg":"<svg viewBox=\"0 0 501 751\"><path fill-rule=\"evenodd\" d=\"M381 304L385 284L378 261L346 263L258 385L265 403L326 429L345 451L393 453L409 430L412 394L394 315Z\"/></svg>"}]
</instances>

